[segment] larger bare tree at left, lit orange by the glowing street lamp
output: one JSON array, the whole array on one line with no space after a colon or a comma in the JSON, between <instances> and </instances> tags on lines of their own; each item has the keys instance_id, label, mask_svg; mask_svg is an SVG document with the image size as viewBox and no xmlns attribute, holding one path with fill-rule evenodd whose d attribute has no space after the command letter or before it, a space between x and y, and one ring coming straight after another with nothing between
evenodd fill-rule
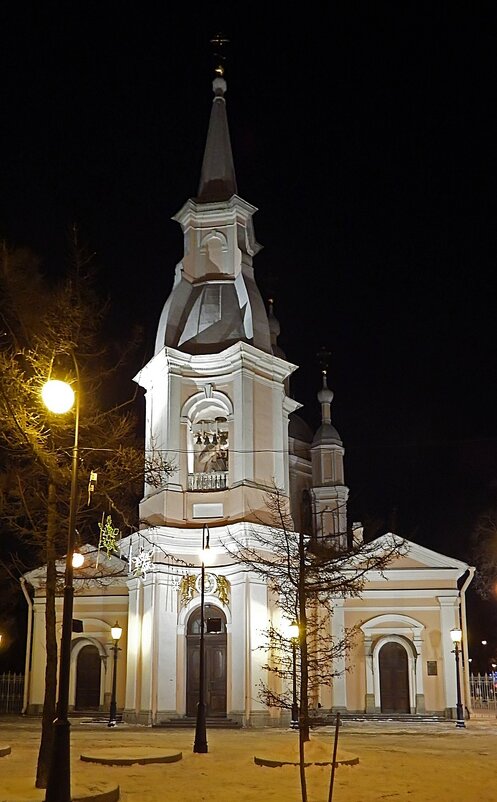
<instances>
[{"instance_id":1,"label":"larger bare tree at left, lit orange by the glowing street lamp","mask_svg":"<svg viewBox=\"0 0 497 802\"><path fill-rule=\"evenodd\" d=\"M144 457L133 405L115 398L123 349L102 342L107 304L94 291L92 261L74 232L67 276L50 284L26 251L0 253L0 503L4 537L27 565L46 564L45 698L36 786L46 787L57 688L56 561L67 545L74 417L50 414L41 400L48 378L77 379L81 415L76 527L97 542L101 510L119 529L137 527L143 477L160 482L172 470L166 455ZM131 339L131 338L130 338ZM77 376L75 375L77 374ZM110 386L110 390L109 390ZM95 480L96 476L96 480Z\"/></svg>"}]
</instances>

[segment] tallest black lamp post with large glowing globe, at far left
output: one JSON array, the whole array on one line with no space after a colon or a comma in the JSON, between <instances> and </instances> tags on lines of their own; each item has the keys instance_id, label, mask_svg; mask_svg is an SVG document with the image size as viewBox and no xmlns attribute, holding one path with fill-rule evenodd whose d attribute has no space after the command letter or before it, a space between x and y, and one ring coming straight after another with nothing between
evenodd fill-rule
<instances>
[{"instance_id":1,"label":"tallest black lamp post with large glowing globe, at far left","mask_svg":"<svg viewBox=\"0 0 497 802\"><path fill-rule=\"evenodd\" d=\"M71 753L69 710L69 678L71 673L72 615L74 602L73 564L76 533L76 490L78 478L79 436L79 370L71 354L76 371L76 392L66 382L51 379L42 388L42 398L52 412L64 413L74 405L74 442L72 447L71 495L69 501L69 527L67 532L66 567L62 608L62 636L59 657L59 686L56 718L53 723L53 742L48 771L45 802L71 802Z\"/></svg>"}]
</instances>

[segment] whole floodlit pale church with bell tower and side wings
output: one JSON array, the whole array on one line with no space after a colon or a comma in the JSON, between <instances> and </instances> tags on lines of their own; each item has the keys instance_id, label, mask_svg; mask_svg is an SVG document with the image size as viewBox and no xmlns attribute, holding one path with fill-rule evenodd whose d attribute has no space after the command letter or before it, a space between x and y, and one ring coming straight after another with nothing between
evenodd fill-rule
<instances>
[{"instance_id":1,"label":"whole floodlit pale church with bell tower and side wings","mask_svg":"<svg viewBox=\"0 0 497 802\"><path fill-rule=\"evenodd\" d=\"M279 348L272 303L266 310L255 282L256 209L237 194L226 89L218 75L198 192L174 218L184 256L154 355L135 377L145 390L145 449L167 455L174 470L160 487L145 483L141 528L121 541L120 557L108 558L107 580L92 579L91 559L75 575L70 707L108 710L117 620L117 706L127 721L148 725L195 716L202 625L208 718L289 723L288 710L268 708L260 696L264 630L278 621L277 606L267 580L232 556L254 532L270 536L274 488L296 531L362 537L361 526L347 522L344 447L331 422L326 372L314 434L289 394L297 366ZM206 538L209 564L206 551L199 555ZM462 629L468 666L464 594L472 576L465 563L407 543L385 571L368 574L359 596L334 599L331 635L354 627L358 637L335 661L332 681L313 691L315 711L455 717L450 631ZM34 590L25 710L39 713L43 569L25 580ZM462 685L464 695L466 678Z\"/></svg>"}]
</instances>

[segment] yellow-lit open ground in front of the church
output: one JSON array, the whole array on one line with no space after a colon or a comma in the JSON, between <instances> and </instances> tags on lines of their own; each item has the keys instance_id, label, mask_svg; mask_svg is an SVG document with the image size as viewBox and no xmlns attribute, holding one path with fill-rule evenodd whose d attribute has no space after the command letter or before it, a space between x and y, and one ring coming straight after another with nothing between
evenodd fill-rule
<instances>
[{"instance_id":1,"label":"yellow-lit open ground in front of the church","mask_svg":"<svg viewBox=\"0 0 497 802\"><path fill-rule=\"evenodd\" d=\"M0 719L0 746L12 752L0 758L0 802L36 802L34 789L39 722ZM160 730L73 720L72 788L118 784L124 802L298 802L298 768L258 766L254 757L286 760L295 754L296 734L289 730L209 730L207 754L192 751L191 730ZM309 756L333 752L333 728L312 732ZM175 763L104 766L80 760L85 753L114 748L152 752L178 750ZM471 720L466 729L453 723L399 725L395 722L344 722L338 758L359 763L336 769L333 802L497 802L497 719ZM307 769L309 802L328 802L330 769Z\"/></svg>"}]
</instances>

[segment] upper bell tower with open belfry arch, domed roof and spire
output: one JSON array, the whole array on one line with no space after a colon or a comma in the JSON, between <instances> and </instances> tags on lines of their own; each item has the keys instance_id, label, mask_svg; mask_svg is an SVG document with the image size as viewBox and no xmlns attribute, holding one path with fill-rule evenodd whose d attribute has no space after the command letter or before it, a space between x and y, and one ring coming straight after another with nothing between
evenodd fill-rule
<instances>
[{"instance_id":1,"label":"upper bell tower with open belfry arch, domed roof and spire","mask_svg":"<svg viewBox=\"0 0 497 802\"><path fill-rule=\"evenodd\" d=\"M237 194L222 73L197 195L173 218L184 256L154 356L135 378L146 391L147 452L175 466L161 487L145 486L147 525L268 523L268 491L289 495L288 416L301 405L286 387L296 365L276 353L255 282L257 209Z\"/></svg>"}]
</instances>

